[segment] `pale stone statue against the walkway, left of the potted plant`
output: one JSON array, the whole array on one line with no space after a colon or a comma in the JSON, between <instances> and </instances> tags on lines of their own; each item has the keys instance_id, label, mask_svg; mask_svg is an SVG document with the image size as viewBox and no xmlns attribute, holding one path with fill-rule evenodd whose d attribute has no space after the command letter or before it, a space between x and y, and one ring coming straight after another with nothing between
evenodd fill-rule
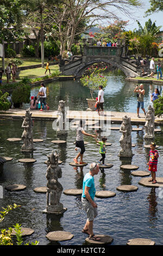
<instances>
[{"instance_id":1,"label":"pale stone statue against the walkway, left of the potted plant","mask_svg":"<svg viewBox=\"0 0 163 256\"><path fill-rule=\"evenodd\" d=\"M66 120L66 115L67 115L67 111L65 108L65 101L60 100L59 101L59 105L58 105L58 119L57 119L57 125L58 125L58 129L57 129L57 135L64 135L66 134L68 131L65 130L65 120Z\"/></svg>"}]
</instances>

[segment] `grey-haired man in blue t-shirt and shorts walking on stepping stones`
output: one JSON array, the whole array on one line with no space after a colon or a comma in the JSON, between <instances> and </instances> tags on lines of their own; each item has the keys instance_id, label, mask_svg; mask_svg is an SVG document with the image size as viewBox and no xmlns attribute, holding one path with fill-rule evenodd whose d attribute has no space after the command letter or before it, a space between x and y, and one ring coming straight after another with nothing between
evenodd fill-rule
<instances>
[{"instance_id":1,"label":"grey-haired man in blue t-shirt and shorts walking on stepping stones","mask_svg":"<svg viewBox=\"0 0 163 256\"><path fill-rule=\"evenodd\" d=\"M83 233L89 235L89 239L93 241L99 241L100 238L93 234L93 220L98 215L97 204L94 201L96 188L94 175L99 172L99 166L97 163L90 164L90 171L86 173L83 180L83 194L82 204L83 208L87 213L87 221L82 230Z\"/></svg>"}]
</instances>

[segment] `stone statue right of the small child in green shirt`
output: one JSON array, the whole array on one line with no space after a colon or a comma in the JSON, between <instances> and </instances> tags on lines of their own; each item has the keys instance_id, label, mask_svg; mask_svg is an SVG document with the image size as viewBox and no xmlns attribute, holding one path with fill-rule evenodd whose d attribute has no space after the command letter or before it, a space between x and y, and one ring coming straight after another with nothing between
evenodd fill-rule
<instances>
[{"instance_id":1,"label":"stone statue right of the small child in green shirt","mask_svg":"<svg viewBox=\"0 0 163 256\"><path fill-rule=\"evenodd\" d=\"M119 156L132 157L132 142L131 142L131 131L133 127L131 126L130 117L122 118L122 124L120 127L120 132L122 132L122 136L120 138L121 150Z\"/></svg>"}]
</instances>

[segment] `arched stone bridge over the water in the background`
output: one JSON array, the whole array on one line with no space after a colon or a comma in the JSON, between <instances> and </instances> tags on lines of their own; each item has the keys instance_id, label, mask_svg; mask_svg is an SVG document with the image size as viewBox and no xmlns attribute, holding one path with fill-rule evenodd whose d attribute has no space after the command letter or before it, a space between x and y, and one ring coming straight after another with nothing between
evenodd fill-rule
<instances>
[{"instance_id":1,"label":"arched stone bridge over the water in the background","mask_svg":"<svg viewBox=\"0 0 163 256\"><path fill-rule=\"evenodd\" d=\"M134 56L135 57L135 56ZM92 64L104 62L122 70L126 77L141 74L140 62L125 55L125 47L84 46L83 56L77 56L67 64L60 65L62 75L82 77L84 71Z\"/></svg>"}]
</instances>

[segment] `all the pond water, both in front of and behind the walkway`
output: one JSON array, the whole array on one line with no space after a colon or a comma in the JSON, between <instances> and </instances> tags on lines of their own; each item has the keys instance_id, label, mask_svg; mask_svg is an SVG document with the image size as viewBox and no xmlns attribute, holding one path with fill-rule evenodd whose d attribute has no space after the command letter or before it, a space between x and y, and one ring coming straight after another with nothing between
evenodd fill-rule
<instances>
[{"instance_id":1,"label":"all the pond water, both in front of and behind the walkway","mask_svg":"<svg viewBox=\"0 0 163 256\"><path fill-rule=\"evenodd\" d=\"M117 71L116 71L117 72ZM105 109L110 111L136 112L136 96L133 93L135 83L124 80L124 76L118 72L109 73L108 86L105 88ZM156 86L145 84L146 96L145 107L150 103L150 95ZM161 90L161 87L158 87ZM36 95L39 87L33 88L31 95ZM96 95L95 95L96 96ZM51 109L57 109L59 100L66 100L70 110L85 110L87 108L86 97L89 97L89 90L83 88L78 81L55 82L47 85L47 100ZM24 106L25 108L26 106ZM84 161L88 163L86 167L76 170L69 165L73 160L75 151L73 142L76 139L76 132L69 131L66 137L66 144L53 144L52 140L57 139L56 132L52 129L51 120L34 120L34 138L42 138L42 143L35 143L33 154L34 164L23 164L18 159L26 157L20 149L21 142L8 142L7 138L21 137L23 129L22 120L1 119L0 120L0 154L10 156L12 161L4 164L3 173L0 175L0 185L3 186L3 198L0 198L0 208L7 205L21 205L21 208L12 210L0 223L0 228L12 227L15 223L22 224L35 230L32 236L24 237L24 242L40 241L40 245L84 245L86 235L81 232L86 221L86 214L82 209L79 197L61 195L60 202L67 208L62 216L49 216L42 214L46 208L46 194L35 193L36 187L46 186L46 169L44 163L47 155L52 150L57 150L62 178L59 179L64 190L68 188L82 188L84 175L89 171L89 164L99 160L99 148L91 137L85 137L88 141L84 154ZM114 125L115 126L115 125ZM120 126L120 125L116 125ZM136 127L136 126L133 126ZM140 126L141 127L141 126ZM160 128L163 132L163 127ZM93 131L89 131L93 133ZM155 142L160 147L158 173L163 176L163 138L162 132L155 134ZM156 245L162 245L163 237L163 204L162 194L159 188L154 190L138 184L140 177L131 175L130 171L120 169L122 164L136 164L139 170L148 170L149 149L143 148L145 141L143 137L145 131L132 132L133 159L131 162L120 160L119 131L111 131L108 142L112 143L107 148L106 161L114 164L110 169L100 171L95 176L96 190L109 190L116 193L116 197L108 199L95 198L98 204L98 217L94 222L95 234L107 234L114 238L112 245L126 245L129 239L140 237L151 239ZM20 192L9 192L5 186L10 184L23 184L27 188ZM123 193L116 190L120 185L135 185L139 187L136 192ZM74 234L71 241L49 242L46 234L49 231L64 230Z\"/></svg>"}]
</instances>

